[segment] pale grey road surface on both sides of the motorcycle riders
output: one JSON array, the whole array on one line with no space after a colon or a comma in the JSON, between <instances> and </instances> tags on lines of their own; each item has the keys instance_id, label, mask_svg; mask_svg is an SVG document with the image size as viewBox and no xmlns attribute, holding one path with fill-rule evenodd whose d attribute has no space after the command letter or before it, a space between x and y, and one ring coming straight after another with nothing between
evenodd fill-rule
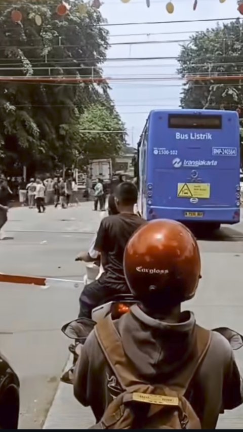
<instances>
[{"instance_id":1,"label":"pale grey road surface on both sides of the motorcycle riders","mask_svg":"<svg viewBox=\"0 0 243 432\"><path fill-rule=\"evenodd\" d=\"M1 272L82 277L84 268L73 258L86 249L100 219L90 203L67 210L50 207L46 214L16 208L9 217L6 235L14 239L0 242ZM198 323L208 328L228 326L243 333L243 224L223 227L216 236L200 239L199 247L203 279L196 297L184 308L194 311ZM68 357L68 342L60 327L76 316L79 292L0 284L0 294L0 331L12 332L0 335L0 349L21 379L20 427L41 428ZM243 349L236 357L243 372ZM63 395L58 402L62 415L52 417L53 428L83 429L92 424L91 412L72 399L70 386ZM222 416L218 427L241 428L242 420L240 407Z\"/></svg>"}]
</instances>

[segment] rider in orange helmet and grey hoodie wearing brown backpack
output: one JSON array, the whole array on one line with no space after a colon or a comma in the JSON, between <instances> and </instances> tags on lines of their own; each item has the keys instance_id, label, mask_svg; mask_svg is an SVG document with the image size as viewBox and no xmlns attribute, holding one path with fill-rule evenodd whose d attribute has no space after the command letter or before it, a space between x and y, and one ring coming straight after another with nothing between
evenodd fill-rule
<instances>
[{"instance_id":1,"label":"rider in orange helmet and grey hoodie wearing brown backpack","mask_svg":"<svg viewBox=\"0 0 243 432\"><path fill-rule=\"evenodd\" d=\"M128 241L124 272L138 304L95 325L74 371L91 428L214 429L242 403L242 379L226 337L181 312L201 277L193 234L176 221L143 225Z\"/></svg>"}]
</instances>

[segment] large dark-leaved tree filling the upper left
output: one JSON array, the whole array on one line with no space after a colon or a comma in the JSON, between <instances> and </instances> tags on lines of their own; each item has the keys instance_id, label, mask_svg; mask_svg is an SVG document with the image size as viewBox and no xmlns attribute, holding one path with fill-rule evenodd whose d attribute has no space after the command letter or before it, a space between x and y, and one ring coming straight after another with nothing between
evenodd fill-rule
<instances>
[{"instance_id":1,"label":"large dark-leaved tree filling the upper left","mask_svg":"<svg viewBox=\"0 0 243 432\"><path fill-rule=\"evenodd\" d=\"M102 77L108 32L98 10L89 6L80 15L77 6L82 2L72 0L70 13L60 17L57 0L17 0L22 21L15 23L15 8L9 3L0 0L1 76ZM41 25L36 15L41 16ZM75 129L76 124L77 130L79 117L95 103L109 106L118 119L103 80L73 85L1 82L2 163L29 165L31 159L33 170L71 164L80 139L70 135L70 125Z\"/></svg>"}]
</instances>

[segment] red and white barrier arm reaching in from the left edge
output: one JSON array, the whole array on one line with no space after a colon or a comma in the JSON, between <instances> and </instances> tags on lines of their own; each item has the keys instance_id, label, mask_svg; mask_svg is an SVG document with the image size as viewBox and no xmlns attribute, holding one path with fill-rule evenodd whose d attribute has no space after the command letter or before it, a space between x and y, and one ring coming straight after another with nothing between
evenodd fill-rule
<instances>
[{"instance_id":1,"label":"red and white barrier arm reaching in from the left edge","mask_svg":"<svg viewBox=\"0 0 243 432\"><path fill-rule=\"evenodd\" d=\"M83 281L76 281L71 279L55 279L55 278L42 278L36 276L22 276L22 275L8 275L0 273L0 282L4 283L18 283L23 285L36 285L41 288L49 288L50 286L57 286L60 288L83 288Z\"/></svg>"}]
</instances>

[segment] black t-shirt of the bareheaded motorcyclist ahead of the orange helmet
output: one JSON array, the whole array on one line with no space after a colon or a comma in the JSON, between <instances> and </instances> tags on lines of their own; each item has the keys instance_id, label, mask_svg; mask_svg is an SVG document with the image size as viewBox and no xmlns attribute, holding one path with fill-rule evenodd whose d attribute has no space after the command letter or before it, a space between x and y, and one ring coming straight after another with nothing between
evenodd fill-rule
<instances>
[{"instance_id":1,"label":"black t-shirt of the bareheaded motorcyclist ahead of the orange helmet","mask_svg":"<svg viewBox=\"0 0 243 432\"><path fill-rule=\"evenodd\" d=\"M125 283L123 271L123 255L128 240L138 227L146 221L137 214L119 213L108 216L101 221L95 249L106 258L102 281L109 283Z\"/></svg>"}]
</instances>

